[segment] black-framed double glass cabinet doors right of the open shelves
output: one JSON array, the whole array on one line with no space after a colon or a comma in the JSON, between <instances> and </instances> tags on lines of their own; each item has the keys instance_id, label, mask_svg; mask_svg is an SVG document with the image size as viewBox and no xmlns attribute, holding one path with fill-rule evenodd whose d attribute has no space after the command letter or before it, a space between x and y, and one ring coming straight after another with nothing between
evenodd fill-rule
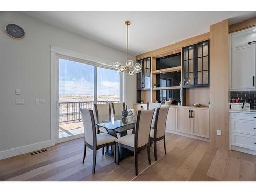
<instances>
[{"instance_id":1,"label":"black-framed double glass cabinet doors right of the open shelves","mask_svg":"<svg viewBox=\"0 0 256 192\"><path fill-rule=\"evenodd\" d=\"M184 88L209 86L209 41L183 48Z\"/></svg>"}]
</instances>

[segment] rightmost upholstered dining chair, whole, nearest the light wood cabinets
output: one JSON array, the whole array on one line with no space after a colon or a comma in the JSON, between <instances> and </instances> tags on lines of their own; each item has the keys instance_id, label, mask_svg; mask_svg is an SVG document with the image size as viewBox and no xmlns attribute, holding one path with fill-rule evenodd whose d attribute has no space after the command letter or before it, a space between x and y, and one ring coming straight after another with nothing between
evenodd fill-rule
<instances>
[{"instance_id":1,"label":"rightmost upholstered dining chair, whole, nearest the light wood cabinets","mask_svg":"<svg viewBox=\"0 0 256 192\"><path fill-rule=\"evenodd\" d=\"M166 119L169 111L169 106L162 106L156 109L156 118L154 122L154 128L150 129L150 142L154 144L154 157L157 160L157 141L163 139L164 152L166 154L166 144L165 144L165 126Z\"/></svg>"}]
</instances>

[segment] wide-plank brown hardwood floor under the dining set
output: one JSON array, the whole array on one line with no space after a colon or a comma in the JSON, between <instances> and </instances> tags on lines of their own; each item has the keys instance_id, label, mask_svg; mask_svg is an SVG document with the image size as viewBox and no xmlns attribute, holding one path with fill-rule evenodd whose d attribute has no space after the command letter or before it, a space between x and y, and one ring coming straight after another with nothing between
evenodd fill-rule
<instances>
[{"instance_id":1,"label":"wide-plank brown hardwood floor under the dining set","mask_svg":"<svg viewBox=\"0 0 256 192\"><path fill-rule=\"evenodd\" d=\"M256 156L212 147L208 142L166 134L157 143L158 160L147 161L146 149L138 154L138 176L133 156L116 165L97 152L92 174L92 150L82 164L83 138L49 147L47 152L0 160L0 181L256 181Z\"/></svg>"}]
</instances>

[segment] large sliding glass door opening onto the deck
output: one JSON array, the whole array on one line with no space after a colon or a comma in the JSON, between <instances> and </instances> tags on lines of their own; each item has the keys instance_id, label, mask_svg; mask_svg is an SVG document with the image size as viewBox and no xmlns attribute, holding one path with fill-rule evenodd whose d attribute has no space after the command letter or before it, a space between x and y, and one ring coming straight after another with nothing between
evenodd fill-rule
<instances>
[{"instance_id":1,"label":"large sliding glass door opening onto the deck","mask_svg":"<svg viewBox=\"0 0 256 192\"><path fill-rule=\"evenodd\" d=\"M58 140L83 136L79 109L92 109L94 104L121 101L120 74L94 63L71 58L58 58Z\"/></svg>"}]
</instances>

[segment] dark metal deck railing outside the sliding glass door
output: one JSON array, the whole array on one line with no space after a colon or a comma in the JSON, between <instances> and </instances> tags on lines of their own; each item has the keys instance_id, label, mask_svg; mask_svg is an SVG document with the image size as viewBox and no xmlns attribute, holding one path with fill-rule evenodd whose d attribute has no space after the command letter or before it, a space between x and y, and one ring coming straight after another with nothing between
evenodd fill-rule
<instances>
[{"instance_id":1,"label":"dark metal deck railing outside the sliding glass door","mask_svg":"<svg viewBox=\"0 0 256 192\"><path fill-rule=\"evenodd\" d=\"M97 104L118 103L119 101L97 101ZM81 102L60 102L59 103L59 122L81 121L80 108L93 109L93 101Z\"/></svg>"}]
</instances>

